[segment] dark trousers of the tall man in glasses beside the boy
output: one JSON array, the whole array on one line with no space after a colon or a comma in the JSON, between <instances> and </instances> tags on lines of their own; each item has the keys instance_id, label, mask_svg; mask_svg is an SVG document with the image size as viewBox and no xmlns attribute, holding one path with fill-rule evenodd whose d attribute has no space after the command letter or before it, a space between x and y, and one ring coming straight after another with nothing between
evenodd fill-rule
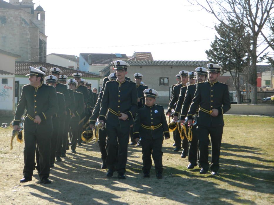
<instances>
[{"instance_id":1,"label":"dark trousers of the tall man in glasses beside the boy","mask_svg":"<svg viewBox=\"0 0 274 205\"><path fill-rule=\"evenodd\" d=\"M127 164L127 145L129 142L130 126L120 127L106 124L106 164L110 170L117 169L118 173L125 174ZM118 143L118 150L117 150ZM117 152L118 151L118 152ZM116 159L119 160L116 160Z\"/></svg>"}]
</instances>

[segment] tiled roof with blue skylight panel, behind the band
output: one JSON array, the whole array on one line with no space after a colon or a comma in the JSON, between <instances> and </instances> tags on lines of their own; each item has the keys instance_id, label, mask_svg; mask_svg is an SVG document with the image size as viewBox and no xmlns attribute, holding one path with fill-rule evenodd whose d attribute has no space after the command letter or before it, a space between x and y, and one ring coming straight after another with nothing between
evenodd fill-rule
<instances>
[{"instance_id":1,"label":"tiled roof with blue skylight panel, behind the band","mask_svg":"<svg viewBox=\"0 0 274 205\"><path fill-rule=\"evenodd\" d=\"M122 57L117 57L119 55L113 53L80 53L80 55L88 62L88 56L91 55L91 64L94 66L107 66L112 61L116 60L128 60L126 54L119 54Z\"/></svg>"}]
</instances>

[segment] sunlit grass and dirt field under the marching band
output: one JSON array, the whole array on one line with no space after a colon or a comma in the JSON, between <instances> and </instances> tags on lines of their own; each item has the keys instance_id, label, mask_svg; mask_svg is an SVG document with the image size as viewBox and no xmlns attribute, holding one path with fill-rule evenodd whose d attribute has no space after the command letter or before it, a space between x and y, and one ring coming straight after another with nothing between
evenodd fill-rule
<instances>
[{"instance_id":1,"label":"sunlit grass and dirt field under the marching band","mask_svg":"<svg viewBox=\"0 0 274 205\"><path fill-rule=\"evenodd\" d=\"M39 183L36 170L31 182L19 183L23 144L14 140L10 151L11 129L0 128L1 204L273 204L274 118L225 115L224 120L219 176L188 170L187 158L173 151L171 136L163 144L163 179L153 170L150 178L142 177L137 146L128 148L127 179L118 180L116 173L107 179L92 141L76 154L68 151L51 169L48 185Z\"/></svg>"}]
</instances>

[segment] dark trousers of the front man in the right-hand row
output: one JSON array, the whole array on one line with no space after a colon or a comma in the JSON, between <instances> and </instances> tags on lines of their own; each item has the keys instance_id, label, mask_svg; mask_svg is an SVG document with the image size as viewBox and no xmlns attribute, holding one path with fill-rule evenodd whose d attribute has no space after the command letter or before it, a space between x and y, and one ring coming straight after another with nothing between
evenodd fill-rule
<instances>
[{"instance_id":1,"label":"dark trousers of the front man in the right-hand row","mask_svg":"<svg viewBox=\"0 0 274 205\"><path fill-rule=\"evenodd\" d=\"M199 164L205 170L208 169L208 146L209 146L209 134L211 138L211 165L210 170L217 172L219 170L219 158L220 158L220 149L221 141L223 134L223 126L221 127L206 127L203 125L197 126L197 134L199 136Z\"/></svg>"}]
</instances>

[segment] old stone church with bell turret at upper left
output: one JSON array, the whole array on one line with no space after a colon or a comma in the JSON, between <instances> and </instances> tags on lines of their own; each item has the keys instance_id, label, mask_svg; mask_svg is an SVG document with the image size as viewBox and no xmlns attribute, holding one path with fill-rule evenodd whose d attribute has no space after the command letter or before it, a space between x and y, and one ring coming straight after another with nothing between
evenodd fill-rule
<instances>
[{"instance_id":1,"label":"old stone church with bell turret at upper left","mask_svg":"<svg viewBox=\"0 0 274 205\"><path fill-rule=\"evenodd\" d=\"M18 60L46 62L45 11L32 0L0 0L0 48Z\"/></svg>"}]
</instances>

